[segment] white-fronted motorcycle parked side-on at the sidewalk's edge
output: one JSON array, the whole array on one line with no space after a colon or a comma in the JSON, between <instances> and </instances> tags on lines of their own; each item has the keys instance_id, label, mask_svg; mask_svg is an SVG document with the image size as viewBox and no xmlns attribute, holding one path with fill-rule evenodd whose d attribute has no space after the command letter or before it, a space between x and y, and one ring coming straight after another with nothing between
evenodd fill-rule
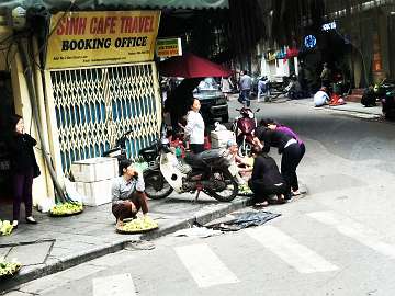
<instances>
[{"instance_id":1,"label":"white-fronted motorcycle parked side-on at the sidewalk's edge","mask_svg":"<svg viewBox=\"0 0 395 296\"><path fill-rule=\"evenodd\" d=\"M149 198L165 198L176 191L196 192L196 201L204 192L219 202L230 202L238 194L237 170L229 166L226 149L206 150L180 159L167 144L156 140L150 147L140 149L139 155L148 162L143 174Z\"/></svg>"}]
</instances>

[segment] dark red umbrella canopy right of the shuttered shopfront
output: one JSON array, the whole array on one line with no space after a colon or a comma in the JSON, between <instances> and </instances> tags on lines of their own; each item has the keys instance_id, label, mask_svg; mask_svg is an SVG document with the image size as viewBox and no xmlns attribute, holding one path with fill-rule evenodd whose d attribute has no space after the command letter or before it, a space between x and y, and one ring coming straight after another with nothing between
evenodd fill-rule
<instances>
[{"instance_id":1,"label":"dark red umbrella canopy right of the shuttered shopfront","mask_svg":"<svg viewBox=\"0 0 395 296\"><path fill-rule=\"evenodd\" d=\"M185 53L159 62L159 73L166 77L200 78L228 77L232 71L208 59Z\"/></svg>"}]
</instances>

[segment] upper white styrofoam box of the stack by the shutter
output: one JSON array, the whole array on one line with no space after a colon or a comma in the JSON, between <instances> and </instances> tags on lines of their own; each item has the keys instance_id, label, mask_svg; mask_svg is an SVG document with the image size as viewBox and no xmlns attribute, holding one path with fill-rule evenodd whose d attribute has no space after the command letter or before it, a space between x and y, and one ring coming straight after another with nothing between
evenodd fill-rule
<instances>
[{"instance_id":1,"label":"upper white styrofoam box of the stack by the shutter","mask_svg":"<svg viewBox=\"0 0 395 296\"><path fill-rule=\"evenodd\" d=\"M117 159L95 157L75 161L71 164L71 174L77 182L95 182L117 177Z\"/></svg>"}]
</instances>

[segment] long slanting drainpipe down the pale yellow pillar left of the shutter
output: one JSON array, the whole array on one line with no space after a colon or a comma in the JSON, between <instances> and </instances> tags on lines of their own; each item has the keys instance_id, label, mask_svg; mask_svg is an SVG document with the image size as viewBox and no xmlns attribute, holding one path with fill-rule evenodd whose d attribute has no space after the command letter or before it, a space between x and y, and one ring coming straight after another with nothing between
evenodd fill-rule
<instances>
[{"instance_id":1,"label":"long slanting drainpipe down the pale yellow pillar left of the shutter","mask_svg":"<svg viewBox=\"0 0 395 296\"><path fill-rule=\"evenodd\" d=\"M27 37L26 45L29 45L30 42L31 42L31 39ZM25 77L26 84L27 84L29 99L30 99L30 102L31 102L32 111L33 111L34 123L36 125L37 134L38 134L40 141L41 141L41 145L42 145L44 159L45 159L45 162L47 164L50 178L52 178L52 180L54 182L56 193L58 194L59 200L63 203L65 203L65 202L67 202L66 196L65 196L65 192L64 192L63 187L60 186L60 183L58 182L58 180L56 178L56 173L55 173L55 170L54 170L54 168L52 166L52 161L50 161L50 158L49 158L48 149L46 147L46 141L45 141L44 136L43 136L43 130L41 128L38 106L36 104L36 102L37 102L36 92L35 92L34 82L33 82L34 79L33 79L31 59L29 57L29 53L26 50L26 47L23 46L22 38L18 39L18 49L19 49L19 53L21 55L21 60L22 60L22 65L23 65L23 68L24 68L23 75Z\"/></svg>"}]
</instances>

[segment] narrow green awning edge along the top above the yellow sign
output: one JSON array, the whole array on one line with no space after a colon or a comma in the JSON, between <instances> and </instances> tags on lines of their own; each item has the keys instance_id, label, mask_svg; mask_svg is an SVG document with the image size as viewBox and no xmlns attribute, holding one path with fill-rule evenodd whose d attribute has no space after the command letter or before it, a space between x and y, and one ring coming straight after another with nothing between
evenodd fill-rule
<instances>
[{"instance_id":1,"label":"narrow green awning edge along the top above the yellow sign","mask_svg":"<svg viewBox=\"0 0 395 296\"><path fill-rule=\"evenodd\" d=\"M0 1L0 8L25 9L31 7L46 7L47 9L65 9L70 5L70 0L10 0ZM229 0L76 0L79 9L97 9L112 7L121 9L228 9Z\"/></svg>"}]
</instances>

